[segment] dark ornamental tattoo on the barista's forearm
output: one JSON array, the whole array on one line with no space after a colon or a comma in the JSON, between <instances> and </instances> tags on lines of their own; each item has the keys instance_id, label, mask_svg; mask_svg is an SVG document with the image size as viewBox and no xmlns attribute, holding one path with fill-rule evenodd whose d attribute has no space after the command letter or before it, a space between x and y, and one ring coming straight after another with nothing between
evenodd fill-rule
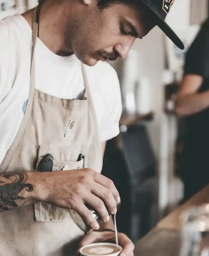
<instances>
[{"instance_id":1,"label":"dark ornamental tattoo on the barista's forearm","mask_svg":"<svg viewBox=\"0 0 209 256\"><path fill-rule=\"evenodd\" d=\"M19 193L26 188L33 191L33 186L26 183L27 174L4 174L0 176L0 211L9 210L11 207L21 207L26 198Z\"/></svg>"}]
</instances>

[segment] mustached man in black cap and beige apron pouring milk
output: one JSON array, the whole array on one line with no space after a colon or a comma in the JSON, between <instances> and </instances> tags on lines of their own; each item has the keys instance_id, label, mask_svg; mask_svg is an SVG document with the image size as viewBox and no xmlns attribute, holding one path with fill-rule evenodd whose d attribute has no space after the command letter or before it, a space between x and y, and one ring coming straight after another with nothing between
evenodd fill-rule
<instances>
[{"instance_id":1,"label":"mustached man in black cap and beige apron pouring milk","mask_svg":"<svg viewBox=\"0 0 209 256\"><path fill-rule=\"evenodd\" d=\"M172 2L45 0L1 21L1 255L74 255L77 239L115 242L109 214L120 196L100 172L121 101L105 61L125 58L155 25L183 48L164 23ZM98 230L86 203L104 222L85 236L72 210ZM133 255L118 238L120 255Z\"/></svg>"}]
</instances>

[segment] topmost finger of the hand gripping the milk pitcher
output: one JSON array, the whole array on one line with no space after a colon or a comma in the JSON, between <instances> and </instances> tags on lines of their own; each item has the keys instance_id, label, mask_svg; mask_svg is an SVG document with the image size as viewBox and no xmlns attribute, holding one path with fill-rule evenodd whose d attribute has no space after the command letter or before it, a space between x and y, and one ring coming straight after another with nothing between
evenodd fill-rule
<instances>
[{"instance_id":1,"label":"topmost finger of the hand gripping the milk pitcher","mask_svg":"<svg viewBox=\"0 0 209 256\"><path fill-rule=\"evenodd\" d=\"M120 203L120 195L119 192L117 190L117 188L115 187L114 183L112 180L108 179L107 177L105 177L104 175L96 172L95 173L95 181L97 183L99 183L100 185L103 185L104 187L108 188L111 190L115 200L117 203Z\"/></svg>"}]
</instances>

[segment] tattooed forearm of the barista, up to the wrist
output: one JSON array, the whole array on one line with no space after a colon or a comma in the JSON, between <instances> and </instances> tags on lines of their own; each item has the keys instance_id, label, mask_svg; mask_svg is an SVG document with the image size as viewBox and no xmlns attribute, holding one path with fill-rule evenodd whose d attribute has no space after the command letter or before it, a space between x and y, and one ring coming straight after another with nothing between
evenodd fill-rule
<instances>
[{"instance_id":1,"label":"tattooed forearm of the barista, up to the wrist","mask_svg":"<svg viewBox=\"0 0 209 256\"><path fill-rule=\"evenodd\" d=\"M0 212L44 200L42 173L2 173L0 175Z\"/></svg>"}]
</instances>

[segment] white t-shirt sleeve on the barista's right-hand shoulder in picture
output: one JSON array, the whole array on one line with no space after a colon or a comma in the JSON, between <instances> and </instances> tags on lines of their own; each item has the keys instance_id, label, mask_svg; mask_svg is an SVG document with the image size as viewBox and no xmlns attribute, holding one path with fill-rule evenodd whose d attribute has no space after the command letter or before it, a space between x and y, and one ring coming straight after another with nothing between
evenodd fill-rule
<instances>
[{"instance_id":1,"label":"white t-shirt sleeve on the barista's right-hand shoulder in picture","mask_svg":"<svg viewBox=\"0 0 209 256\"><path fill-rule=\"evenodd\" d=\"M107 141L120 133L119 121L122 112L120 84L116 71L110 67L106 81L104 115L99 127L101 141Z\"/></svg>"}]
</instances>

